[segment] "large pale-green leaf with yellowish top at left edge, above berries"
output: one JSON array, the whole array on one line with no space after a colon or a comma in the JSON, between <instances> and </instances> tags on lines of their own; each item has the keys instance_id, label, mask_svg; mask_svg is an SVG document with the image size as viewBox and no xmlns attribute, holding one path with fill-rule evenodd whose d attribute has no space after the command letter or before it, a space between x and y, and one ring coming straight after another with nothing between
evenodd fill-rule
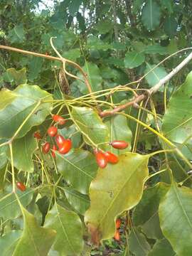
<instances>
[{"instance_id":1,"label":"large pale-green leaf with yellowish top at left edge, above berries","mask_svg":"<svg viewBox=\"0 0 192 256\"><path fill-rule=\"evenodd\" d=\"M2 96L1 93L0 97ZM5 102L3 101L4 108L1 110L2 106L0 103L0 138L7 139L14 135L41 99L53 100L48 92L41 90L36 85L20 85L13 92L7 91L6 95L9 96L9 93L11 95L9 105L6 102L6 107L4 107ZM50 109L50 103L41 104L23 125L18 133L18 137L23 137L31 127L41 124L50 113Z\"/></svg>"}]
</instances>

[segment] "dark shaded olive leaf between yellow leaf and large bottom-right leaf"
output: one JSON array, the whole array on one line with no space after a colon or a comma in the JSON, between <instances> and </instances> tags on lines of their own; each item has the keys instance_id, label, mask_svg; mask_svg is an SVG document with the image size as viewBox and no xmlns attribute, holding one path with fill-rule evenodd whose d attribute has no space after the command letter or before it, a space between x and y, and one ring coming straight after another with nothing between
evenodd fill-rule
<instances>
[{"instance_id":1,"label":"dark shaded olive leaf between yellow leaf and large bottom-right leaf","mask_svg":"<svg viewBox=\"0 0 192 256\"><path fill-rule=\"evenodd\" d=\"M159 224L159 202L163 198L169 186L157 183L152 188L147 188L142 200L136 206L133 213L133 223L142 228L148 238L159 239L163 237Z\"/></svg>"}]
</instances>

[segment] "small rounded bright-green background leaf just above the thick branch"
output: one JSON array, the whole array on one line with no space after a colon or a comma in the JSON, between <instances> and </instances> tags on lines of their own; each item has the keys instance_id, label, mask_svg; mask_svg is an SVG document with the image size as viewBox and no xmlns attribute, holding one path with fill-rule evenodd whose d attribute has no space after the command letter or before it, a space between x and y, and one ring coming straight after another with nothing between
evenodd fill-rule
<instances>
[{"instance_id":1,"label":"small rounded bright-green background leaf just above the thick branch","mask_svg":"<svg viewBox=\"0 0 192 256\"><path fill-rule=\"evenodd\" d=\"M136 68L139 65L142 65L142 63L144 63L143 53L137 53L137 51L126 53L124 58L125 68Z\"/></svg>"}]
</instances>

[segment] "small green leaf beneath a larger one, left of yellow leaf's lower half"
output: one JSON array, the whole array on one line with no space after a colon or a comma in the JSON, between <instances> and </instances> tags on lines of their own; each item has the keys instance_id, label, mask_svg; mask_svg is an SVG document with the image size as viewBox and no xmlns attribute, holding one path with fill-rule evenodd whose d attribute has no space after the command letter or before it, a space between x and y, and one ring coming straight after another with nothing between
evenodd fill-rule
<instances>
[{"instance_id":1,"label":"small green leaf beneath a larger one, left of yellow leaf's lower half","mask_svg":"<svg viewBox=\"0 0 192 256\"><path fill-rule=\"evenodd\" d=\"M83 195L73 188L63 187L64 193L68 202L73 208L81 215L85 214L85 211L90 206L90 198L87 195Z\"/></svg>"}]
</instances>

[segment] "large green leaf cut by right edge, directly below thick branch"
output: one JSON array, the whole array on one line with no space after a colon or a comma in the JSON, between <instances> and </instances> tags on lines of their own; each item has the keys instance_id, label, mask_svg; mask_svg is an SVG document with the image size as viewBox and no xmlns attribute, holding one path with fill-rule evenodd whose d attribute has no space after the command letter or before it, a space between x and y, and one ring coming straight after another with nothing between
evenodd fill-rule
<instances>
[{"instance_id":1,"label":"large green leaf cut by right edge, directly below thick branch","mask_svg":"<svg viewBox=\"0 0 192 256\"><path fill-rule=\"evenodd\" d=\"M191 82L192 72L188 74L186 81L171 97L163 118L162 132L164 136L178 144L191 143Z\"/></svg>"}]
</instances>

